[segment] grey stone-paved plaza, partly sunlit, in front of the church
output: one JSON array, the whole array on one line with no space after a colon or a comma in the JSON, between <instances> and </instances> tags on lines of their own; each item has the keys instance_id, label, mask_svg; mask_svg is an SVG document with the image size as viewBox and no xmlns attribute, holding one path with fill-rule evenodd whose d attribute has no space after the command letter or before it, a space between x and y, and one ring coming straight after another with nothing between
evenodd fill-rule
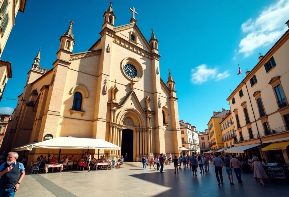
<instances>
[{"instance_id":1,"label":"grey stone-paved plaza, partly sunlit, in front of the church","mask_svg":"<svg viewBox=\"0 0 289 197\"><path fill-rule=\"evenodd\" d=\"M174 174L173 165L165 165L164 173L147 168L121 168L98 171L67 171L29 175L27 171L15 196L25 197L125 197L125 196L230 196L230 197L285 197L288 185L268 184L262 187L253 174L242 174L243 183L229 184L223 168L224 184L218 186L214 167L210 172L193 177L190 170ZM236 178L235 175L233 175Z\"/></svg>"}]
</instances>

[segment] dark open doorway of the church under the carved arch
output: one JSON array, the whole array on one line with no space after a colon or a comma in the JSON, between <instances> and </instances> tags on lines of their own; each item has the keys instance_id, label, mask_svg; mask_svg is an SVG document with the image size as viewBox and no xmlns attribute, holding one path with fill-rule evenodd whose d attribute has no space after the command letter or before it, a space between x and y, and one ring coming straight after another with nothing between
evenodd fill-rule
<instances>
[{"instance_id":1,"label":"dark open doorway of the church under the carved arch","mask_svg":"<svg viewBox=\"0 0 289 197\"><path fill-rule=\"evenodd\" d=\"M125 158L127 153L126 161L133 161L134 154L134 131L130 129L123 129L121 135L121 155Z\"/></svg>"}]
</instances>

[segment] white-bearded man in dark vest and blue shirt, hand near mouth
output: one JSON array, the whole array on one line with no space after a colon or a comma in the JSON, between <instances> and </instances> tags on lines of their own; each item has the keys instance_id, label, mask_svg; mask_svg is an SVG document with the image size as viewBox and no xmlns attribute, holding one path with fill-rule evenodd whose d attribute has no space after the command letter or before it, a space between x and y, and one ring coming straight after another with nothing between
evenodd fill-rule
<instances>
[{"instance_id":1,"label":"white-bearded man in dark vest and blue shirt, hand near mouth","mask_svg":"<svg viewBox=\"0 0 289 197\"><path fill-rule=\"evenodd\" d=\"M18 153L8 153L7 162L0 166L0 196L14 197L19 184L24 178L25 168L22 163L16 162Z\"/></svg>"}]
</instances>

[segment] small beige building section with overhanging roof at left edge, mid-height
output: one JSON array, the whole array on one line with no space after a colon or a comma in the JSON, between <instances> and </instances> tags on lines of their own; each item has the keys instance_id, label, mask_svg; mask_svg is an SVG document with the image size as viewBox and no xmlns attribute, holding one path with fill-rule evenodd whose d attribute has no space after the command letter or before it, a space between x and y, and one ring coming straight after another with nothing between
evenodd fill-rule
<instances>
[{"instance_id":1,"label":"small beige building section with overhanging roof at left edge, mid-height","mask_svg":"<svg viewBox=\"0 0 289 197\"><path fill-rule=\"evenodd\" d=\"M0 102L8 82L8 78L12 78L11 62L0 60Z\"/></svg>"}]
</instances>

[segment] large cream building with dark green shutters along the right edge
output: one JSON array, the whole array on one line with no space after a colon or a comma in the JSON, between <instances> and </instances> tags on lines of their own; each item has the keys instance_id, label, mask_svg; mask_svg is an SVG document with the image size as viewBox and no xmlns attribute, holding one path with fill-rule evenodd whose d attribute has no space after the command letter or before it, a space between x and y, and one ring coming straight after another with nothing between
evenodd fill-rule
<instances>
[{"instance_id":1,"label":"large cream building with dark green shutters along the right edge","mask_svg":"<svg viewBox=\"0 0 289 197\"><path fill-rule=\"evenodd\" d=\"M289 27L289 20L287 25ZM248 157L257 153L270 162L289 162L288 39L289 30L259 57L257 65L246 72L244 80L227 99L236 130L238 143L235 145L256 145L244 151ZM268 145L275 147L267 151Z\"/></svg>"}]
</instances>

